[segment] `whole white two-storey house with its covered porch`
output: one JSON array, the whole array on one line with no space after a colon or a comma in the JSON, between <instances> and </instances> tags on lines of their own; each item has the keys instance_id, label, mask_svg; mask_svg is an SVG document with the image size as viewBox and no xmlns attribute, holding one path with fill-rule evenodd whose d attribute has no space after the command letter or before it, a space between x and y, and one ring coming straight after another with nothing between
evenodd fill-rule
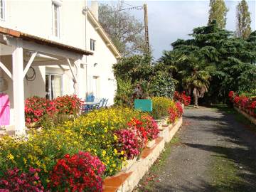
<instances>
[{"instance_id":1,"label":"whole white two-storey house with its covered porch","mask_svg":"<svg viewBox=\"0 0 256 192\"><path fill-rule=\"evenodd\" d=\"M120 54L97 21L97 1L91 4L0 0L0 92L9 95L16 134L24 132L24 100L33 95L93 93L112 105Z\"/></svg>"}]
</instances>

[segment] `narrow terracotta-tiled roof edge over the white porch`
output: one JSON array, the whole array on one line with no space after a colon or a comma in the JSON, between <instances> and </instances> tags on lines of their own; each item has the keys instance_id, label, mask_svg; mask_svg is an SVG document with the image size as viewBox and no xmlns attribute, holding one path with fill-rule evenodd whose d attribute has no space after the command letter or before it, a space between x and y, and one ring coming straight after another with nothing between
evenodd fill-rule
<instances>
[{"instance_id":1,"label":"narrow terracotta-tiled roof edge over the white porch","mask_svg":"<svg viewBox=\"0 0 256 192\"><path fill-rule=\"evenodd\" d=\"M0 26L0 33L6 34L6 35L9 35L9 36L14 36L16 38L22 38L23 40L26 40L26 41L34 41L34 42L39 43L39 44L44 44L44 45L48 45L48 46L51 46L51 47L60 48L60 49L63 49L63 50L69 50L69 51L72 51L72 52L75 52L75 53L80 53L82 55L93 55L93 53L91 51L88 51L88 50L84 50L84 49L81 49L81 48L75 48L73 46L68 46L68 45L65 45L63 43L58 43L56 41L50 41L46 38L33 36L31 34L23 33L21 31L15 31L11 28L4 28L4 27Z\"/></svg>"}]
</instances>

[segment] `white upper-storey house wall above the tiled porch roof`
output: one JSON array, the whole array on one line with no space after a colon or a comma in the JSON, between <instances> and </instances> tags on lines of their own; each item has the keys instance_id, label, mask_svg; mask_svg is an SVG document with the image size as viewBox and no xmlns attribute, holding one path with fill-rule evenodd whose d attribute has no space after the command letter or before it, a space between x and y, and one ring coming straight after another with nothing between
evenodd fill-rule
<instances>
[{"instance_id":1,"label":"white upper-storey house wall above the tiled porch roof","mask_svg":"<svg viewBox=\"0 0 256 192\"><path fill-rule=\"evenodd\" d=\"M61 0L58 0L61 1ZM52 35L52 0L4 0L0 26L85 49L85 0L62 0L60 37Z\"/></svg>"}]
</instances>

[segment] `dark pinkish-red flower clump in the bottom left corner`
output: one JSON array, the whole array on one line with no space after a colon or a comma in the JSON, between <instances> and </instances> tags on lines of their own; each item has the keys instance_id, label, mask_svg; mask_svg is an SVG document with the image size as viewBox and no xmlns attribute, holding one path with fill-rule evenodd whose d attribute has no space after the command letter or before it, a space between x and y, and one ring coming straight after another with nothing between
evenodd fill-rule
<instances>
[{"instance_id":1,"label":"dark pinkish-red flower clump in the bottom left corner","mask_svg":"<svg viewBox=\"0 0 256 192\"><path fill-rule=\"evenodd\" d=\"M0 178L0 191L37 191L43 192L44 188L38 176L40 169L30 168L28 173L14 168L4 173L4 177Z\"/></svg>"}]
</instances>

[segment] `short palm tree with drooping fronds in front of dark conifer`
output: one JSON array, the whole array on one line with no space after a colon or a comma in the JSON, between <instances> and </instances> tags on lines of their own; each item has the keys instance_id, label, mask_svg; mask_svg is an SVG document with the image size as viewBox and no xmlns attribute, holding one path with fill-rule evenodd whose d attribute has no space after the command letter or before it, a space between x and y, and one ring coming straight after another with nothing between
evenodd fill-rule
<instances>
[{"instance_id":1,"label":"short palm tree with drooping fronds in front of dark conifer","mask_svg":"<svg viewBox=\"0 0 256 192\"><path fill-rule=\"evenodd\" d=\"M189 95L193 94L194 106L198 107L198 98L208 92L210 85L210 70L212 66L207 65L204 60L189 55L183 63L179 73L182 75L183 88Z\"/></svg>"}]
</instances>

